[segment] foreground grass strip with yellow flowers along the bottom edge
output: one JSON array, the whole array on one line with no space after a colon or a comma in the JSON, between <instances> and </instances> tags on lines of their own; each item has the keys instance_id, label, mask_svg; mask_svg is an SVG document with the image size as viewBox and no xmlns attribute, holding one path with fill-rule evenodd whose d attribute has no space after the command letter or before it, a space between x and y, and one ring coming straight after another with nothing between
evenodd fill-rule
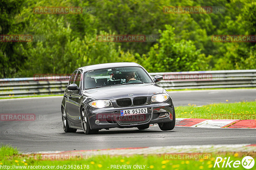
<instances>
[{"instance_id":1,"label":"foreground grass strip with yellow flowers along the bottom edge","mask_svg":"<svg viewBox=\"0 0 256 170\"><path fill-rule=\"evenodd\" d=\"M4 149L2 149L4 147ZM162 170L162 169L179 169L179 170L187 170L187 169L213 169L215 159L217 156L229 157L230 160L239 160L242 161L244 156L252 156L255 159L255 152L229 152L229 153L212 153L208 159L170 159L170 155L130 155L130 156L94 156L88 157L87 159L80 160L36 160L32 157L28 157L28 155L19 155L17 154L17 150L13 149L9 146L1 147L1 166L10 166L12 168L13 165L16 166L15 169L26 169L28 167L30 169L31 166L54 166L52 169L57 169L56 167L64 166L63 169L111 169L111 165L131 165L131 169L133 169L134 165L145 165L145 169L154 169L154 170ZM9 150L9 151L8 151ZM209 154L209 153L208 153ZM79 165L77 168L77 165ZM222 164L221 164L222 165ZM17 167L23 166L23 167ZM76 166L76 168L75 168ZM81 168L82 166L82 168ZM66 168L65 168L66 167ZM2 168L3 169L3 168ZM36 168L34 168L36 169ZM37 169L43 169L37 168ZM47 169L47 168L46 168ZM113 169L113 167L112 167ZM223 169L223 168L222 168ZM242 165L238 168L228 168L228 169L244 169ZM255 168L253 168L254 170Z\"/></svg>"}]
</instances>

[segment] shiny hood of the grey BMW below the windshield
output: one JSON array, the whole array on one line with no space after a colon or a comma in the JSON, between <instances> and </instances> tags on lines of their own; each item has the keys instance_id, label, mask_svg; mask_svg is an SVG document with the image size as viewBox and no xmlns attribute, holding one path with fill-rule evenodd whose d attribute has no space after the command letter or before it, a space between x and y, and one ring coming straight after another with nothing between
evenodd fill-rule
<instances>
[{"instance_id":1,"label":"shiny hood of the grey BMW below the windshield","mask_svg":"<svg viewBox=\"0 0 256 170\"><path fill-rule=\"evenodd\" d=\"M138 96L152 96L163 93L164 89L153 83L145 84L123 84L118 86L100 87L84 90L83 94L95 99L116 100L119 98L133 98ZM132 94L133 96L129 96Z\"/></svg>"}]
</instances>

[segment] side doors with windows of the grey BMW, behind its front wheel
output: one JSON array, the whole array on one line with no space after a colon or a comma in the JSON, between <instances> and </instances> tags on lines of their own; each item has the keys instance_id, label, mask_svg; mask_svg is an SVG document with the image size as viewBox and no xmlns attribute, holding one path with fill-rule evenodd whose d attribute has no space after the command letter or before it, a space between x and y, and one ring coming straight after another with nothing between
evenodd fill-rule
<instances>
[{"instance_id":1,"label":"side doors with windows of the grey BMW, behind its front wheel","mask_svg":"<svg viewBox=\"0 0 256 170\"><path fill-rule=\"evenodd\" d=\"M76 74L78 71L75 71L68 82L68 85L73 84L76 78ZM66 112L67 112L67 117L71 122L76 123L77 121L77 117L75 116L75 110L76 110L76 103L74 102L74 100L72 99L74 96L74 93L76 93L76 91L78 90L65 90L65 96L66 96L66 100L65 100L65 104L66 104ZM78 117L79 119L79 117Z\"/></svg>"}]
</instances>

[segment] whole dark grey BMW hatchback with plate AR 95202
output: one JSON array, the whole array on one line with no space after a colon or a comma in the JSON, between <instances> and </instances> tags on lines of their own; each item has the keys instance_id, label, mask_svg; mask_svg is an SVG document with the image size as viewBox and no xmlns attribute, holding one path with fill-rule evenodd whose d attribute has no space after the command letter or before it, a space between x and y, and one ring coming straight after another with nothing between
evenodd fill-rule
<instances>
[{"instance_id":1,"label":"whole dark grey BMW hatchback with plate AR 95202","mask_svg":"<svg viewBox=\"0 0 256 170\"><path fill-rule=\"evenodd\" d=\"M148 129L162 131L175 126L170 94L137 63L106 63L77 68L70 76L61 102L65 132L81 129L95 134L101 129Z\"/></svg>"}]
</instances>

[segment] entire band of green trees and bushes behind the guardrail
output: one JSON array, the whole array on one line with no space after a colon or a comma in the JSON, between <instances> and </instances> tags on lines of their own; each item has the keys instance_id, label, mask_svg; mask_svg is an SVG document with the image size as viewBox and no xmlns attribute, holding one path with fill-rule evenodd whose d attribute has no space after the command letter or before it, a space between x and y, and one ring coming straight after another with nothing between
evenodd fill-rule
<instances>
[{"instance_id":1,"label":"entire band of green trees and bushes behind the guardrail","mask_svg":"<svg viewBox=\"0 0 256 170\"><path fill-rule=\"evenodd\" d=\"M36 14L34 7L87 7L82 14ZM168 14L164 6L222 6L224 13ZM255 35L250 0L0 0L0 34L43 41L0 42L0 78L71 73L76 67L138 62L149 72L255 68L255 43L216 43L212 35ZM99 34L156 34L156 42L99 42Z\"/></svg>"}]
</instances>

